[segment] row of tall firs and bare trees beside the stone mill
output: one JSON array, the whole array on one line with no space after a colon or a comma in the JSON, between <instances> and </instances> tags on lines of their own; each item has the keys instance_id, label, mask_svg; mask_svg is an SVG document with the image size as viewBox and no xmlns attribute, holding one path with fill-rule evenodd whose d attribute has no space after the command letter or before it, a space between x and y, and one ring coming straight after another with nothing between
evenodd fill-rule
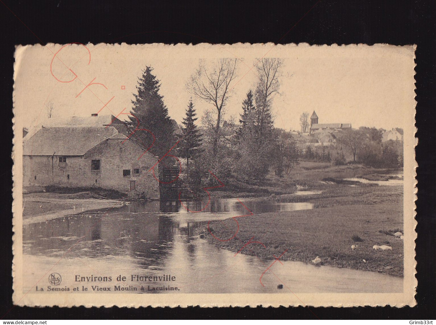
<instances>
[{"instance_id":1,"label":"row of tall firs and bare trees beside the stone mill","mask_svg":"<svg viewBox=\"0 0 436 325\"><path fill-rule=\"evenodd\" d=\"M136 141L144 148L154 141L149 151L158 157L178 141L176 154L171 154L185 160L185 181L191 184L213 183L215 179L208 170L220 179L235 177L245 182L262 180L272 169L279 176L289 174L298 162L296 142L289 132L274 128L272 114L272 99L280 88L282 64L279 58L256 61L256 83L241 98L236 125L232 118L225 118L225 109L235 84L237 60L221 58L213 64L200 61L186 84L192 97L187 103L180 134L174 133L177 125L168 115L159 93L160 81L153 68L147 66L138 78L137 93L133 94L129 126L144 130L135 132ZM201 122L195 102L211 107L204 111ZM165 160L167 165L174 163Z\"/></svg>"}]
</instances>

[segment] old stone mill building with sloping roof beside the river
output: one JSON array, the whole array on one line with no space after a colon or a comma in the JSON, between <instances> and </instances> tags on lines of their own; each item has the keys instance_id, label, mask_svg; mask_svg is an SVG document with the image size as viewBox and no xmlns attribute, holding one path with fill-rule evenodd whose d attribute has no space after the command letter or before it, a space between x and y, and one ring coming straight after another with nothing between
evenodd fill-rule
<instances>
[{"instance_id":1,"label":"old stone mill building with sloping roof beside the river","mask_svg":"<svg viewBox=\"0 0 436 325\"><path fill-rule=\"evenodd\" d=\"M23 186L102 187L158 199L158 158L113 115L54 120L23 139ZM144 153L145 152L145 153Z\"/></svg>"}]
</instances>

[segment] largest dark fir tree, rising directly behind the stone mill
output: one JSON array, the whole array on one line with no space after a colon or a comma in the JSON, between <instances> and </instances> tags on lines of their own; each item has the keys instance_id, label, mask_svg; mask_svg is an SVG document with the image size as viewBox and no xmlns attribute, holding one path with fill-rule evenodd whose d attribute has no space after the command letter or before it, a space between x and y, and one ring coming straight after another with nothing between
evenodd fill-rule
<instances>
[{"instance_id":1,"label":"largest dark fir tree, rising directly behind the stone mill","mask_svg":"<svg viewBox=\"0 0 436 325\"><path fill-rule=\"evenodd\" d=\"M138 78L138 85L136 85L138 93L133 94L135 96L131 110L133 116L129 116L129 125L132 129L137 127L137 129L150 130L156 140L149 151L161 157L173 146L174 126L163 96L159 94L160 81L151 73L152 71L153 68L147 66L142 77ZM139 139L145 148L151 146L153 142L153 136L146 131L136 131L132 136Z\"/></svg>"}]
</instances>

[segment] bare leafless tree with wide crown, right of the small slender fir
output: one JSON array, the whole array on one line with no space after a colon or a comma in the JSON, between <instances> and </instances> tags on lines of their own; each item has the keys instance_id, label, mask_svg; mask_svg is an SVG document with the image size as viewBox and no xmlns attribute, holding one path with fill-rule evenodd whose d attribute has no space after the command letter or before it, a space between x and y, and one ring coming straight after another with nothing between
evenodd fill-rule
<instances>
[{"instance_id":1,"label":"bare leafless tree with wide crown, right of the small slender fir","mask_svg":"<svg viewBox=\"0 0 436 325\"><path fill-rule=\"evenodd\" d=\"M215 106L218 114L215 124L215 139L213 152L216 154L222 109L229 98L229 85L236 74L236 59L221 58L210 69L206 69L204 62L200 62L197 71L191 75L187 88L205 102Z\"/></svg>"}]
</instances>

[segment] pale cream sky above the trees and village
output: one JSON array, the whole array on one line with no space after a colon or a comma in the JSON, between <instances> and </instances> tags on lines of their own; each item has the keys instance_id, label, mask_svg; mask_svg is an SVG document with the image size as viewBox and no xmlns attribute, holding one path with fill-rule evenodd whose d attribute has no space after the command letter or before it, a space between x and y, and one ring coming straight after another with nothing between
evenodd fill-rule
<instances>
[{"instance_id":1,"label":"pale cream sky above the trees and village","mask_svg":"<svg viewBox=\"0 0 436 325\"><path fill-rule=\"evenodd\" d=\"M279 93L272 102L278 128L299 130L301 113L313 111L319 123L403 128L414 109L411 47L48 44L17 48L15 123L27 128L44 125L48 105L53 105L53 118L129 112L137 78L147 65L161 82L170 117L180 123L192 96L186 88L189 77L200 59L212 65L218 58L237 58L225 115L237 121L246 93L255 88L253 64L264 55L283 60ZM92 80L102 85L83 90ZM199 117L213 109L200 98L192 99Z\"/></svg>"}]
</instances>

